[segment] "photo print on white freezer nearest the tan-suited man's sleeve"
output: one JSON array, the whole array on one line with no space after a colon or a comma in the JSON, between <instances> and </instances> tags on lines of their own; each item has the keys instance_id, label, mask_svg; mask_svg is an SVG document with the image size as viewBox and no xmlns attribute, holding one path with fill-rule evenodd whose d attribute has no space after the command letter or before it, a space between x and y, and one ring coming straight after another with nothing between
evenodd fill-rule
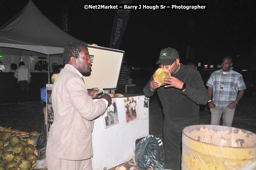
<instances>
[{"instance_id":1,"label":"photo print on white freezer nearest the tan-suited man's sleeve","mask_svg":"<svg viewBox=\"0 0 256 170\"><path fill-rule=\"evenodd\" d=\"M103 114L103 122L105 129L119 123L118 112L117 112L117 101L112 98L111 105L107 108Z\"/></svg>"}]
</instances>

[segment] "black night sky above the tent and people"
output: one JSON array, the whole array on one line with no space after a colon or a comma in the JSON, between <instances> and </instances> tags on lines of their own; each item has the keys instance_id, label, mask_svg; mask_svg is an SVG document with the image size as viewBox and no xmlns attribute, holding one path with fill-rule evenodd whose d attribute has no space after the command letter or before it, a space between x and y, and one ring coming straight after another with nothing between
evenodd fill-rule
<instances>
[{"instance_id":1,"label":"black night sky above the tent and people","mask_svg":"<svg viewBox=\"0 0 256 170\"><path fill-rule=\"evenodd\" d=\"M68 32L87 43L110 46L115 10L83 10L83 4L118 4L119 0L32 0L54 24L60 26L68 6ZM0 25L4 25L27 0L1 0ZM255 1L139 1L133 4L207 4L207 10L132 10L119 49L125 60L152 66L160 50L174 47L185 62L187 45L195 47L195 62L220 64L230 55L250 56L256 45ZM245 3L246 2L246 3Z\"/></svg>"}]
</instances>

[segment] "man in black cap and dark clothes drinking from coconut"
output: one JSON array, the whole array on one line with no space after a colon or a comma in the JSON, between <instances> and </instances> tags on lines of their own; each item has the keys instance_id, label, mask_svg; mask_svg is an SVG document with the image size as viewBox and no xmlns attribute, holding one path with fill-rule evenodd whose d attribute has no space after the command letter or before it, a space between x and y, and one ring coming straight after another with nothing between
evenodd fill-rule
<instances>
[{"instance_id":1,"label":"man in black cap and dark clothes drinking from coconut","mask_svg":"<svg viewBox=\"0 0 256 170\"><path fill-rule=\"evenodd\" d=\"M182 130L186 126L199 124L199 105L206 104L208 92L198 70L180 63L179 53L174 48L161 50L156 64L166 68L171 76L165 76L159 82L150 81L143 91L146 97L153 96L157 91L163 106L164 147L166 169L179 169L179 154L182 142Z\"/></svg>"}]
</instances>

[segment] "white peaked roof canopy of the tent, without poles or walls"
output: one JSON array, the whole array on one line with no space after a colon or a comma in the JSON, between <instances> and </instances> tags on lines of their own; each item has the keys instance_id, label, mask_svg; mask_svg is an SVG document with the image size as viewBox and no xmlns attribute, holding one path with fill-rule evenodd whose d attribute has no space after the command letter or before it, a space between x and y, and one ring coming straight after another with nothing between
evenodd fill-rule
<instances>
[{"instance_id":1,"label":"white peaked roof canopy of the tent, without poles or walls","mask_svg":"<svg viewBox=\"0 0 256 170\"><path fill-rule=\"evenodd\" d=\"M0 47L50 55L63 53L63 48L68 41L85 43L54 25L31 0L0 28Z\"/></svg>"}]
</instances>

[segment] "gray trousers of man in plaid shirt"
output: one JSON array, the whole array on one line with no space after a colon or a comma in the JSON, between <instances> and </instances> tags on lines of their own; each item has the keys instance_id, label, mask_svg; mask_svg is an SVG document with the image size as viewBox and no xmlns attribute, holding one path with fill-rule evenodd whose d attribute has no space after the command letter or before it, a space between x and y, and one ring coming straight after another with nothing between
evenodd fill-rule
<instances>
[{"instance_id":1,"label":"gray trousers of man in plaid shirt","mask_svg":"<svg viewBox=\"0 0 256 170\"><path fill-rule=\"evenodd\" d=\"M235 114L235 110L236 110L236 108L230 109L227 106L226 107L217 107L217 106L215 106L215 108L210 108L210 111L211 111L211 125L219 125L220 117L223 113L223 115L222 115L222 125L231 127L233 117L234 117L234 114Z\"/></svg>"}]
</instances>

